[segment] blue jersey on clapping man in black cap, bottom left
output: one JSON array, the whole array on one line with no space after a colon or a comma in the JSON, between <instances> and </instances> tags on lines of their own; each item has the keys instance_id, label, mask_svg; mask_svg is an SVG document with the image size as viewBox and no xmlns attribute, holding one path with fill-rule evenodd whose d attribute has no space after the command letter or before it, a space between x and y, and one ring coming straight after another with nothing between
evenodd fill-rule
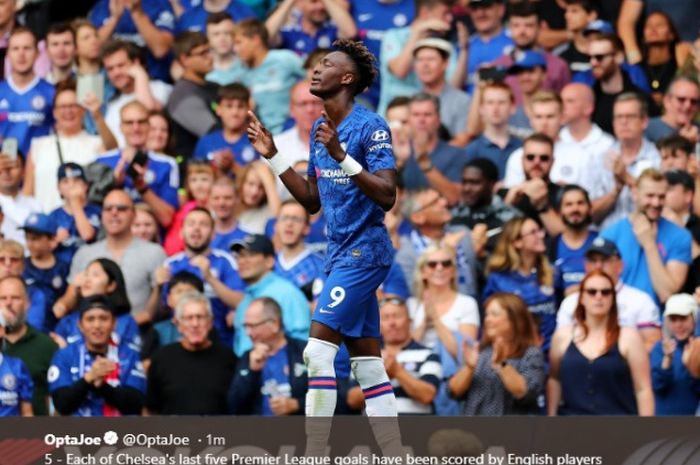
<instances>
[{"instance_id":1,"label":"blue jersey on clapping man in black cap, bottom left","mask_svg":"<svg viewBox=\"0 0 700 465\"><path fill-rule=\"evenodd\" d=\"M139 353L128 346L119 348L110 345L107 358L117 363L118 376L106 377L105 382L112 387L129 386L145 393L146 375L141 365ZM51 366L46 375L49 382L49 393L53 394L58 389L70 387L85 373L90 371L96 356L91 354L85 344L80 342L70 344L56 352L51 360ZM112 416L114 408L108 406L104 399L91 389L83 404L78 407L73 415L78 417Z\"/></svg>"}]
</instances>

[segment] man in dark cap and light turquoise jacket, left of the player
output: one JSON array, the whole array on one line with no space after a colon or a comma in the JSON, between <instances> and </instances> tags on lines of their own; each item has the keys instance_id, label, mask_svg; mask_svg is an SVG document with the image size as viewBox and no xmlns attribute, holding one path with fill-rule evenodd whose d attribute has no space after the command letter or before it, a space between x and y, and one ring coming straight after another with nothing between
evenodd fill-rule
<instances>
[{"instance_id":1,"label":"man in dark cap and light turquoise jacket, left of the player","mask_svg":"<svg viewBox=\"0 0 700 465\"><path fill-rule=\"evenodd\" d=\"M307 340L311 326L309 304L304 293L275 273L275 249L272 242L262 234L251 234L231 245L236 255L238 273L245 281L244 297L236 308L233 351L237 356L253 348L245 332L244 322L248 306L258 297L272 297L282 309L282 323L287 334L295 339Z\"/></svg>"}]
</instances>

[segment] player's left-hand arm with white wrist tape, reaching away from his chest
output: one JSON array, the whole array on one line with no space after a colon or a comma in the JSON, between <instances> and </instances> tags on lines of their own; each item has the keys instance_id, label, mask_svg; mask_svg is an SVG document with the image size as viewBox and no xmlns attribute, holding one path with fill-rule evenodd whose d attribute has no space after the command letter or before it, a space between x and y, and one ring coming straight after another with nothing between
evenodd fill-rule
<instances>
[{"instance_id":1,"label":"player's left-hand arm with white wrist tape, reaching away from his chest","mask_svg":"<svg viewBox=\"0 0 700 465\"><path fill-rule=\"evenodd\" d=\"M289 192L297 201L314 214L321 209L321 198L318 193L316 178L309 176L306 180L299 176L281 154L278 154L275 142L270 131L262 125L252 111L248 112L250 125L248 126L248 139L253 148L270 162L272 170L280 177Z\"/></svg>"}]
</instances>

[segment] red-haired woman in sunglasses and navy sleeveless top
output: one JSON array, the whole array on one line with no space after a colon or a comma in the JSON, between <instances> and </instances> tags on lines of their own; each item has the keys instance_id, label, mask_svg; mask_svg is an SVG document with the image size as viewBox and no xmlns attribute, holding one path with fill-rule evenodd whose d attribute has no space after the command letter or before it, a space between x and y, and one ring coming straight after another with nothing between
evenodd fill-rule
<instances>
[{"instance_id":1,"label":"red-haired woman in sunglasses and navy sleeveless top","mask_svg":"<svg viewBox=\"0 0 700 465\"><path fill-rule=\"evenodd\" d=\"M552 338L549 415L654 415L649 357L642 338L620 327L615 282L593 271L581 282L573 326Z\"/></svg>"}]
</instances>

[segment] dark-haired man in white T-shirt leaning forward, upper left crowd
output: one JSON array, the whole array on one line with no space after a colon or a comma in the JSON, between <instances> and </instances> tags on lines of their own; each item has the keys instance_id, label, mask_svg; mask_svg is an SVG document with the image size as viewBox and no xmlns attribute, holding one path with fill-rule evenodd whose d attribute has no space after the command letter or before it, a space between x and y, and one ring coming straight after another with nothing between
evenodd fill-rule
<instances>
[{"instance_id":1,"label":"dark-haired man in white T-shirt leaning forward, upper left crowd","mask_svg":"<svg viewBox=\"0 0 700 465\"><path fill-rule=\"evenodd\" d=\"M119 147L125 139L121 130L121 109L138 100L147 110L159 110L168 101L172 87L162 81L151 80L139 61L139 51L128 42L113 41L102 49L102 63L107 78L117 94L106 102L105 121Z\"/></svg>"}]
</instances>

